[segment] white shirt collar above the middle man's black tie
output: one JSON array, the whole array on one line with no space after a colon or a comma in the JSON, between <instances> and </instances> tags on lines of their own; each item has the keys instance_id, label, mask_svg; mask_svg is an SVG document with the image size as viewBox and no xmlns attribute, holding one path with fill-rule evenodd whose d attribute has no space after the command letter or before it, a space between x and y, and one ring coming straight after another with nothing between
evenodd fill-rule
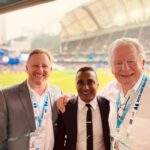
<instances>
[{"instance_id":1,"label":"white shirt collar above the middle man's black tie","mask_svg":"<svg viewBox=\"0 0 150 150\"><path fill-rule=\"evenodd\" d=\"M81 100L81 98L78 96L78 108L79 110L83 109L85 107L85 102ZM93 109L96 109L97 107L97 98L95 97L93 100L90 101L89 103Z\"/></svg>"}]
</instances>

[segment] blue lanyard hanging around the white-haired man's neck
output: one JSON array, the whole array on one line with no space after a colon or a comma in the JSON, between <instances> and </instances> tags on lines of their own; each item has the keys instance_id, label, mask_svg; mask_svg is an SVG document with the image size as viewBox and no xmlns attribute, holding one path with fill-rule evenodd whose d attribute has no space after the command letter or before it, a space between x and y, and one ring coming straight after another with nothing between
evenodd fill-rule
<instances>
[{"instance_id":1,"label":"blue lanyard hanging around the white-haired man's neck","mask_svg":"<svg viewBox=\"0 0 150 150\"><path fill-rule=\"evenodd\" d=\"M141 83L140 83L140 85L139 85L139 87L136 91L137 101L134 104L134 109L135 110L138 110L139 103L140 103L140 100L141 100L141 95L142 95L143 89L145 87L146 81L147 81L147 76L143 75ZM132 102L132 100L127 101L127 104L125 105L125 108L123 109L123 114L120 117L119 114L118 114L118 111L120 109L121 102L120 102L120 93L118 92L118 98L117 98L117 101L116 101L116 107L117 107L117 125L116 125L116 128L120 128L127 112L130 109L131 102Z\"/></svg>"}]
</instances>

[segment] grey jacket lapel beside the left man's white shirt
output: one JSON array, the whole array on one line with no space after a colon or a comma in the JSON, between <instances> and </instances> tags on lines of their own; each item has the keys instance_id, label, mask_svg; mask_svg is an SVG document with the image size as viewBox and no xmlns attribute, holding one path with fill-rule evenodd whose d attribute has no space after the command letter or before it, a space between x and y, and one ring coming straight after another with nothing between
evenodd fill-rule
<instances>
[{"instance_id":1,"label":"grey jacket lapel beside the left man's white shirt","mask_svg":"<svg viewBox=\"0 0 150 150\"><path fill-rule=\"evenodd\" d=\"M34 131L36 128L35 120L34 120L34 113L33 113L32 102L31 102L31 98L30 98L30 94L29 94L26 81L20 85L19 94L20 94L20 100L24 106L28 121L31 125L31 129L32 131Z\"/></svg>"}]
</instances>

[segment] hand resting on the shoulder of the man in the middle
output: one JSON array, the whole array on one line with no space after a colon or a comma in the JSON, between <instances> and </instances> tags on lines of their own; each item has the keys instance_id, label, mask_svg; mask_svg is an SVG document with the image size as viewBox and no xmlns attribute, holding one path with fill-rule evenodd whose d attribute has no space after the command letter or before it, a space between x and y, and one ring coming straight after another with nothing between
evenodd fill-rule
<instances>
[{"instance_id":1,"label":"hand resting on the shoulder of the man in the middle","mask_svg":"<svg viewBox=\"0 0 150 150\"><path fill-rule=\"evenodd\" d=\"M59 97L56 101L57 108L64 113L66 111L65 106L67 105L70 98L75 96L74 94L65 94L61 97Z\"/></svg>"}]
</instances>

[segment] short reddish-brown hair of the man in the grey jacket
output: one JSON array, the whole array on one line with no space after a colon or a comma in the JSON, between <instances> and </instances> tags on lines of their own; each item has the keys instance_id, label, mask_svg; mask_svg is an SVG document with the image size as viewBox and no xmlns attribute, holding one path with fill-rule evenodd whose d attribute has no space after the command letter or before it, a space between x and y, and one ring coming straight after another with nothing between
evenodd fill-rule
<instances>
[{"instance_id":1,"label":"short reddish-brown hair of the man in the grey jacket","mask_svg":"<svg viewBox=\"0 0 150 150\"><path fill-rule=\"evenodd\" d=\"M35 54L45 54L48 57L48 59L50 60L50 62L52 61L51 55L49 54L48 51L46 51L45 49L37 48L37 49L34 49L34 50L31 51L31 53L29 54L27 62Z\"/></svg>"}]
</instances>

